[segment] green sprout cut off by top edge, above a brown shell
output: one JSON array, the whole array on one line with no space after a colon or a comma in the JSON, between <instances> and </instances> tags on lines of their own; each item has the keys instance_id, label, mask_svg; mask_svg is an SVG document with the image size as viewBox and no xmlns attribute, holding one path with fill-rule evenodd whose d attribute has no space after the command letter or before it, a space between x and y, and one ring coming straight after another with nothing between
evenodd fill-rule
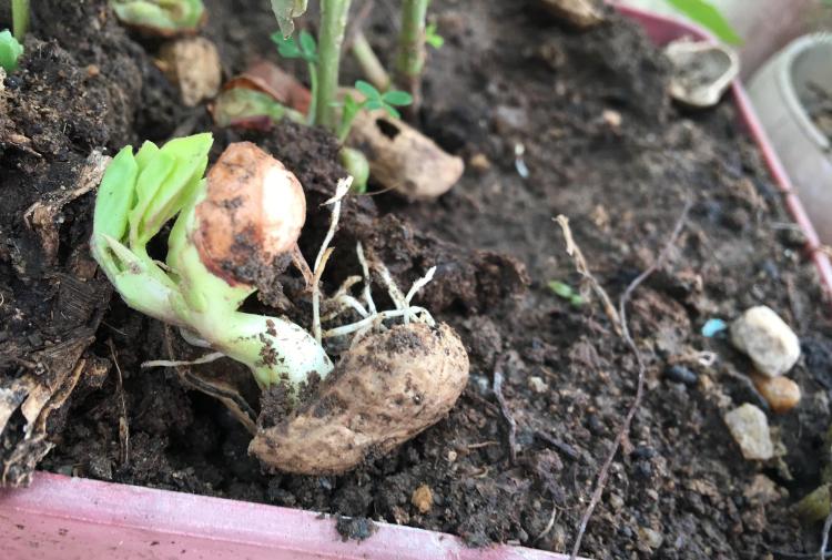
<instances>
[{"instance_id":1,"label":"green sprout cut off by top edge, above a brown shell","mask_svg":"<svg viewBox=\"0 0 832 560\"><path fill-rule=\"evenodd\" d=\"M194 32L205 18L202 0L110 0L110 7L122 23L164 37Z\"/></svg>"}]
</instances>

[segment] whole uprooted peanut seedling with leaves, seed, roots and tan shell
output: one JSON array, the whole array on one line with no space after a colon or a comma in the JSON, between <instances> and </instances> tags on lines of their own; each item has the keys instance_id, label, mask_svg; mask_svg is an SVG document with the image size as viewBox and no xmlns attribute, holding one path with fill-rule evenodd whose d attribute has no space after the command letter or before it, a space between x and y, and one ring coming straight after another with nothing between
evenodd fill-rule
<instances>
[{"instance_id":1,"label":"whole uprooted peanut seedling with leaves, seed, roots and tan shell","mask_svg":"<svg viewBox=\"0 0 832 560\"><path fill-rule=\"evenodd\" d=\"M179 327L190 344L244 364L261 388L281 385L291 399L333 370L323 342L352 338L338 364L341 374L319 396L338 407L297 409L282 426L257 431L250 449L271 466L342 472L372 449L392 449L438 421L465 387L468 359L450 327L436 325L427 309L412 304L435 268L405 294L386 266L358 244L363 275L348 277L326 297L321 275L351 179L339 181L325 203L332 220L310 269L297 250L306 201L294 174L243 142L231 144L203 179L211 144L210 134L172 140L161 149L145 142L136 153L124 147L108 166L91 250L124 302ZM148 243L174 218L165 262L159 263L148 254ZM284 318L240 310L256 291L250 271L277 266L280 272L290 256L310 283L311 332ZM376 307L371 271L387 287L394 309ZM352 288L362 282L356 297ZM348 313L358 320L333 325ZM402 324L390 326L392 319ZM356 418L365 420L356 424Z\"/></svg>"}]
</instances>

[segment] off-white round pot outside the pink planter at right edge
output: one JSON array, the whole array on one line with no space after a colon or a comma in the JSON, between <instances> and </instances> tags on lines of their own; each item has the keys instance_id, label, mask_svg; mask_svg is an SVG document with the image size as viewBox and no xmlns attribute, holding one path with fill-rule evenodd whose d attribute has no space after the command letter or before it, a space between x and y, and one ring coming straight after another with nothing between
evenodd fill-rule
<instances>
[{"instance_id":1,"label":"off-white round pot outside the pink planter at right edge","mask_svg":"<svg viewBox=\"0 0 832 560\"><path fill-rule=\"evenodd\" d=\"M832 95L832 35L801 37L774 55L749 82L771 143L823 243L832 245L832 153L801 101L810 86Z\"/></svg>"}]
</instances>

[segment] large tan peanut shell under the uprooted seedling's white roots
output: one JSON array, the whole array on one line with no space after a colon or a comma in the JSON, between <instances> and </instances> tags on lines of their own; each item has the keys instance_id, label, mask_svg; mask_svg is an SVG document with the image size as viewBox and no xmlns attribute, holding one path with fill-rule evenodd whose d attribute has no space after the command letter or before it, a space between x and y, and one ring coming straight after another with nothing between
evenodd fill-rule
<instances>
[{"instance_id":1,"label":"large tan peanut shell under the uprooted seedling's white roots","mask_svg":"<svg viewBox=\"0 0 832 560\"><path fill-rule=\"evenodd\" d=\"M468 355L448 325L398 325L351 348L315 398L258 429L248 452L286 472L341 474L439 421L467 381Z\"/></svg>"}]
</instances>

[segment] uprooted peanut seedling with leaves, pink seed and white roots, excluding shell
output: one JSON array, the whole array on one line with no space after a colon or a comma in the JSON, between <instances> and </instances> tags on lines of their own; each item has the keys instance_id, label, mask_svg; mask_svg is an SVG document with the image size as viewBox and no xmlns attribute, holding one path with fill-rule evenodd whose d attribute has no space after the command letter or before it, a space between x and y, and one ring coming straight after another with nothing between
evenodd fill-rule
<instances>
[{"instance_id":1,"label":"uprooted peanut seedling with leaves, pink seed and white roots, excluding shell","mask_svg":"<svg viewBox=\"0 0 832 560\"><path fill-rule=\"evenodd\" d=\"M381 310L371 294L369 269L387 278L389 272L365 258L361 244L363 302L349 293L355 279L332 297L323 296L319 278L352 177L338 181L325 203L332 208L329 230L310 269L297 248L306 198L295 175L254 144L239 142L226 147L203 179L212 143L207 133L171 140L161 149L145 142L135 153L131 146L122 149L108 165L95 198L90 248L128 306L177 327L187 343L214 350L199 363L230 357L247 366L261 388L283 385L290 396L313 376L323 379L332 371L322 343L326 338L365 336L397 318L436 325L426 309L410 304L436 268L407 295L387 279L396 307ZM168 254L159 263L148 254L148 243L170 221ZM240 312L256 292L247 278L252 267L272 269L286 256L310 282L312 334L280 317ZM362 318L322 328L322 320L347 312Z\"/></svg>"}]
</instances>

